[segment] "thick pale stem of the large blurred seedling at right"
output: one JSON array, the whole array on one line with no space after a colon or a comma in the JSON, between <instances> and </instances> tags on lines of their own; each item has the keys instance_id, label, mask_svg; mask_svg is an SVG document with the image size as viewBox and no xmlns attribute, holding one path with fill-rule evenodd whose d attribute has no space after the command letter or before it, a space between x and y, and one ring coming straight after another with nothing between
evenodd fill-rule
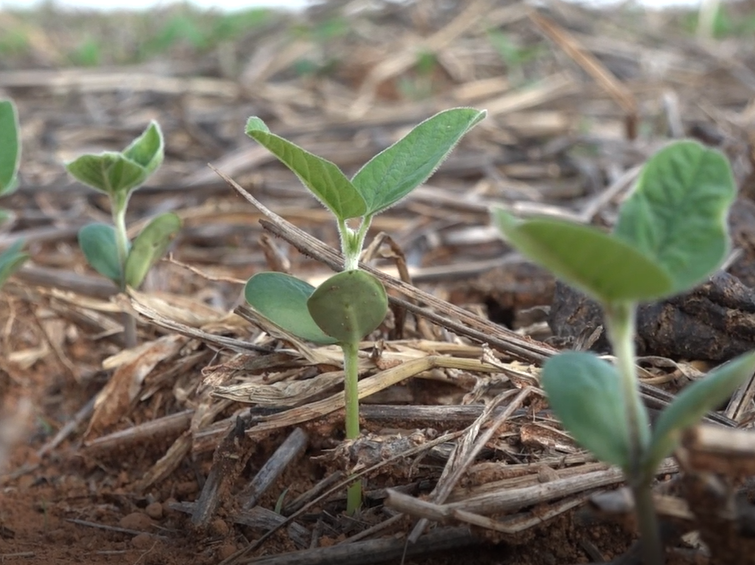
<instances>
[{"instance_id":1,"label":"thick pale stem of the large blurred seedling at right","mask_svg":"<svg viewBox=\"0 0 755 565\"><path fill-rule=\"evenodd\" d=\"M613 346L623 392L630 452L630 468L625 469L625 473L634 495L643 559L646 565L662 565L663 545L653 506L650 478L642 469L645 451L650 442L650 422L647 410L642 404L637 377L634 348L635 310L636 304L631 302L606 305L606 330Z\"/></svg>"}]
</instances>

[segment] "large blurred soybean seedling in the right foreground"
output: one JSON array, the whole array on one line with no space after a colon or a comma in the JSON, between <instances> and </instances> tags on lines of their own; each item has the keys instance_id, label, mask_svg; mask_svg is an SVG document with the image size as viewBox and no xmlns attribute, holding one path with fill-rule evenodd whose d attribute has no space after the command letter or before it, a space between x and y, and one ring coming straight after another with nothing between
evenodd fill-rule
<instances>
[{"instance_id":1,"label":"large blurred soybean seedling in the right foreground","mask_svg":"<svg viewBox=\"0 0 755 565\"><path fill-rule=\"evenodd\" d=\"M735 196L726 158L694 141L672 143L644 166L612 233L555 219L518 220L501 208L493 220L509 243L597 300L615 365L565 352L543 366L553 411L578 443L618 465L632 489L644 562L664 550L651 484L684 429L725 401L755 370L755 353L718 367L685 388L651 429L635 364L637 304L693 288L725 258L726 217Z\"/></svg>"}]
</instances>

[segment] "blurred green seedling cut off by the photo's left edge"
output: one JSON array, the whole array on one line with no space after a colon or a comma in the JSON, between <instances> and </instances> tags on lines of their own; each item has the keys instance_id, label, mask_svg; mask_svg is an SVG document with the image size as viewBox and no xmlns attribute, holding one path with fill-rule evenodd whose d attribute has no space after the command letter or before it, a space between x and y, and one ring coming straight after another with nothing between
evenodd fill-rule
<instances>
[{"instance_id":1,"label":"blurred green seedling cut off by the photo's left edge","mask_svg":"<svg viewBox=\"0 0 755 565\"><path fill-rule=\"evenodd\" d=\"M0 196L11 194L18 188L18 164L21 160L18 113L10 100L0 100ZM0 208L0 223L10 213ZM0 287L29 256L21 251L23 241L17 241L0 253Z\"/></svg>"}]
</instances>

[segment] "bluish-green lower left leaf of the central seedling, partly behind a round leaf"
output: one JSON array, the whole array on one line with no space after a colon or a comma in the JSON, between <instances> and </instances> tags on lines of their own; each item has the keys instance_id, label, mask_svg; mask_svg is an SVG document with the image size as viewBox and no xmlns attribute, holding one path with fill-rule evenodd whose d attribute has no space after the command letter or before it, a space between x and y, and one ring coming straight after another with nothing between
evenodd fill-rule
<instances>
[{"instance_id":1,"label":"bluish-green lower left leaf of the central seedling, partly behind a round leaf","mask_svg":"<svg viewBox=\"0 0 755 565\"><path fill-rule=\"evenodd\" d=\"M257 273L244 287L249 305L287 332L319 344L336 340L323 333L307 309L311 284L284 273Z\"/></svg>"}]
</instances>

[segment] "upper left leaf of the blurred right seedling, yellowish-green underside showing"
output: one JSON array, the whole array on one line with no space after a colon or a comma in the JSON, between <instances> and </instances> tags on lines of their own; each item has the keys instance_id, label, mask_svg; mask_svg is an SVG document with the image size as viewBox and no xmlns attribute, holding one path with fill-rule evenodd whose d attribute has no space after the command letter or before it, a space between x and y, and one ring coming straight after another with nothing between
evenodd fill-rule
<instances>
[{"instance_id":1,"label":"upper left leaf of the blurred right seedling, yellowish-green underside showing","mask_svg":"<svg viewBox=\"0 0 755 565\"><path fill-rule=\"evenodd\" d=\"M517 220L501 208L493 208L492 215L513 247L604 304L652 300L672 287L664 269L594 227L556 219Z\"/></svg>"}]
</instances>

